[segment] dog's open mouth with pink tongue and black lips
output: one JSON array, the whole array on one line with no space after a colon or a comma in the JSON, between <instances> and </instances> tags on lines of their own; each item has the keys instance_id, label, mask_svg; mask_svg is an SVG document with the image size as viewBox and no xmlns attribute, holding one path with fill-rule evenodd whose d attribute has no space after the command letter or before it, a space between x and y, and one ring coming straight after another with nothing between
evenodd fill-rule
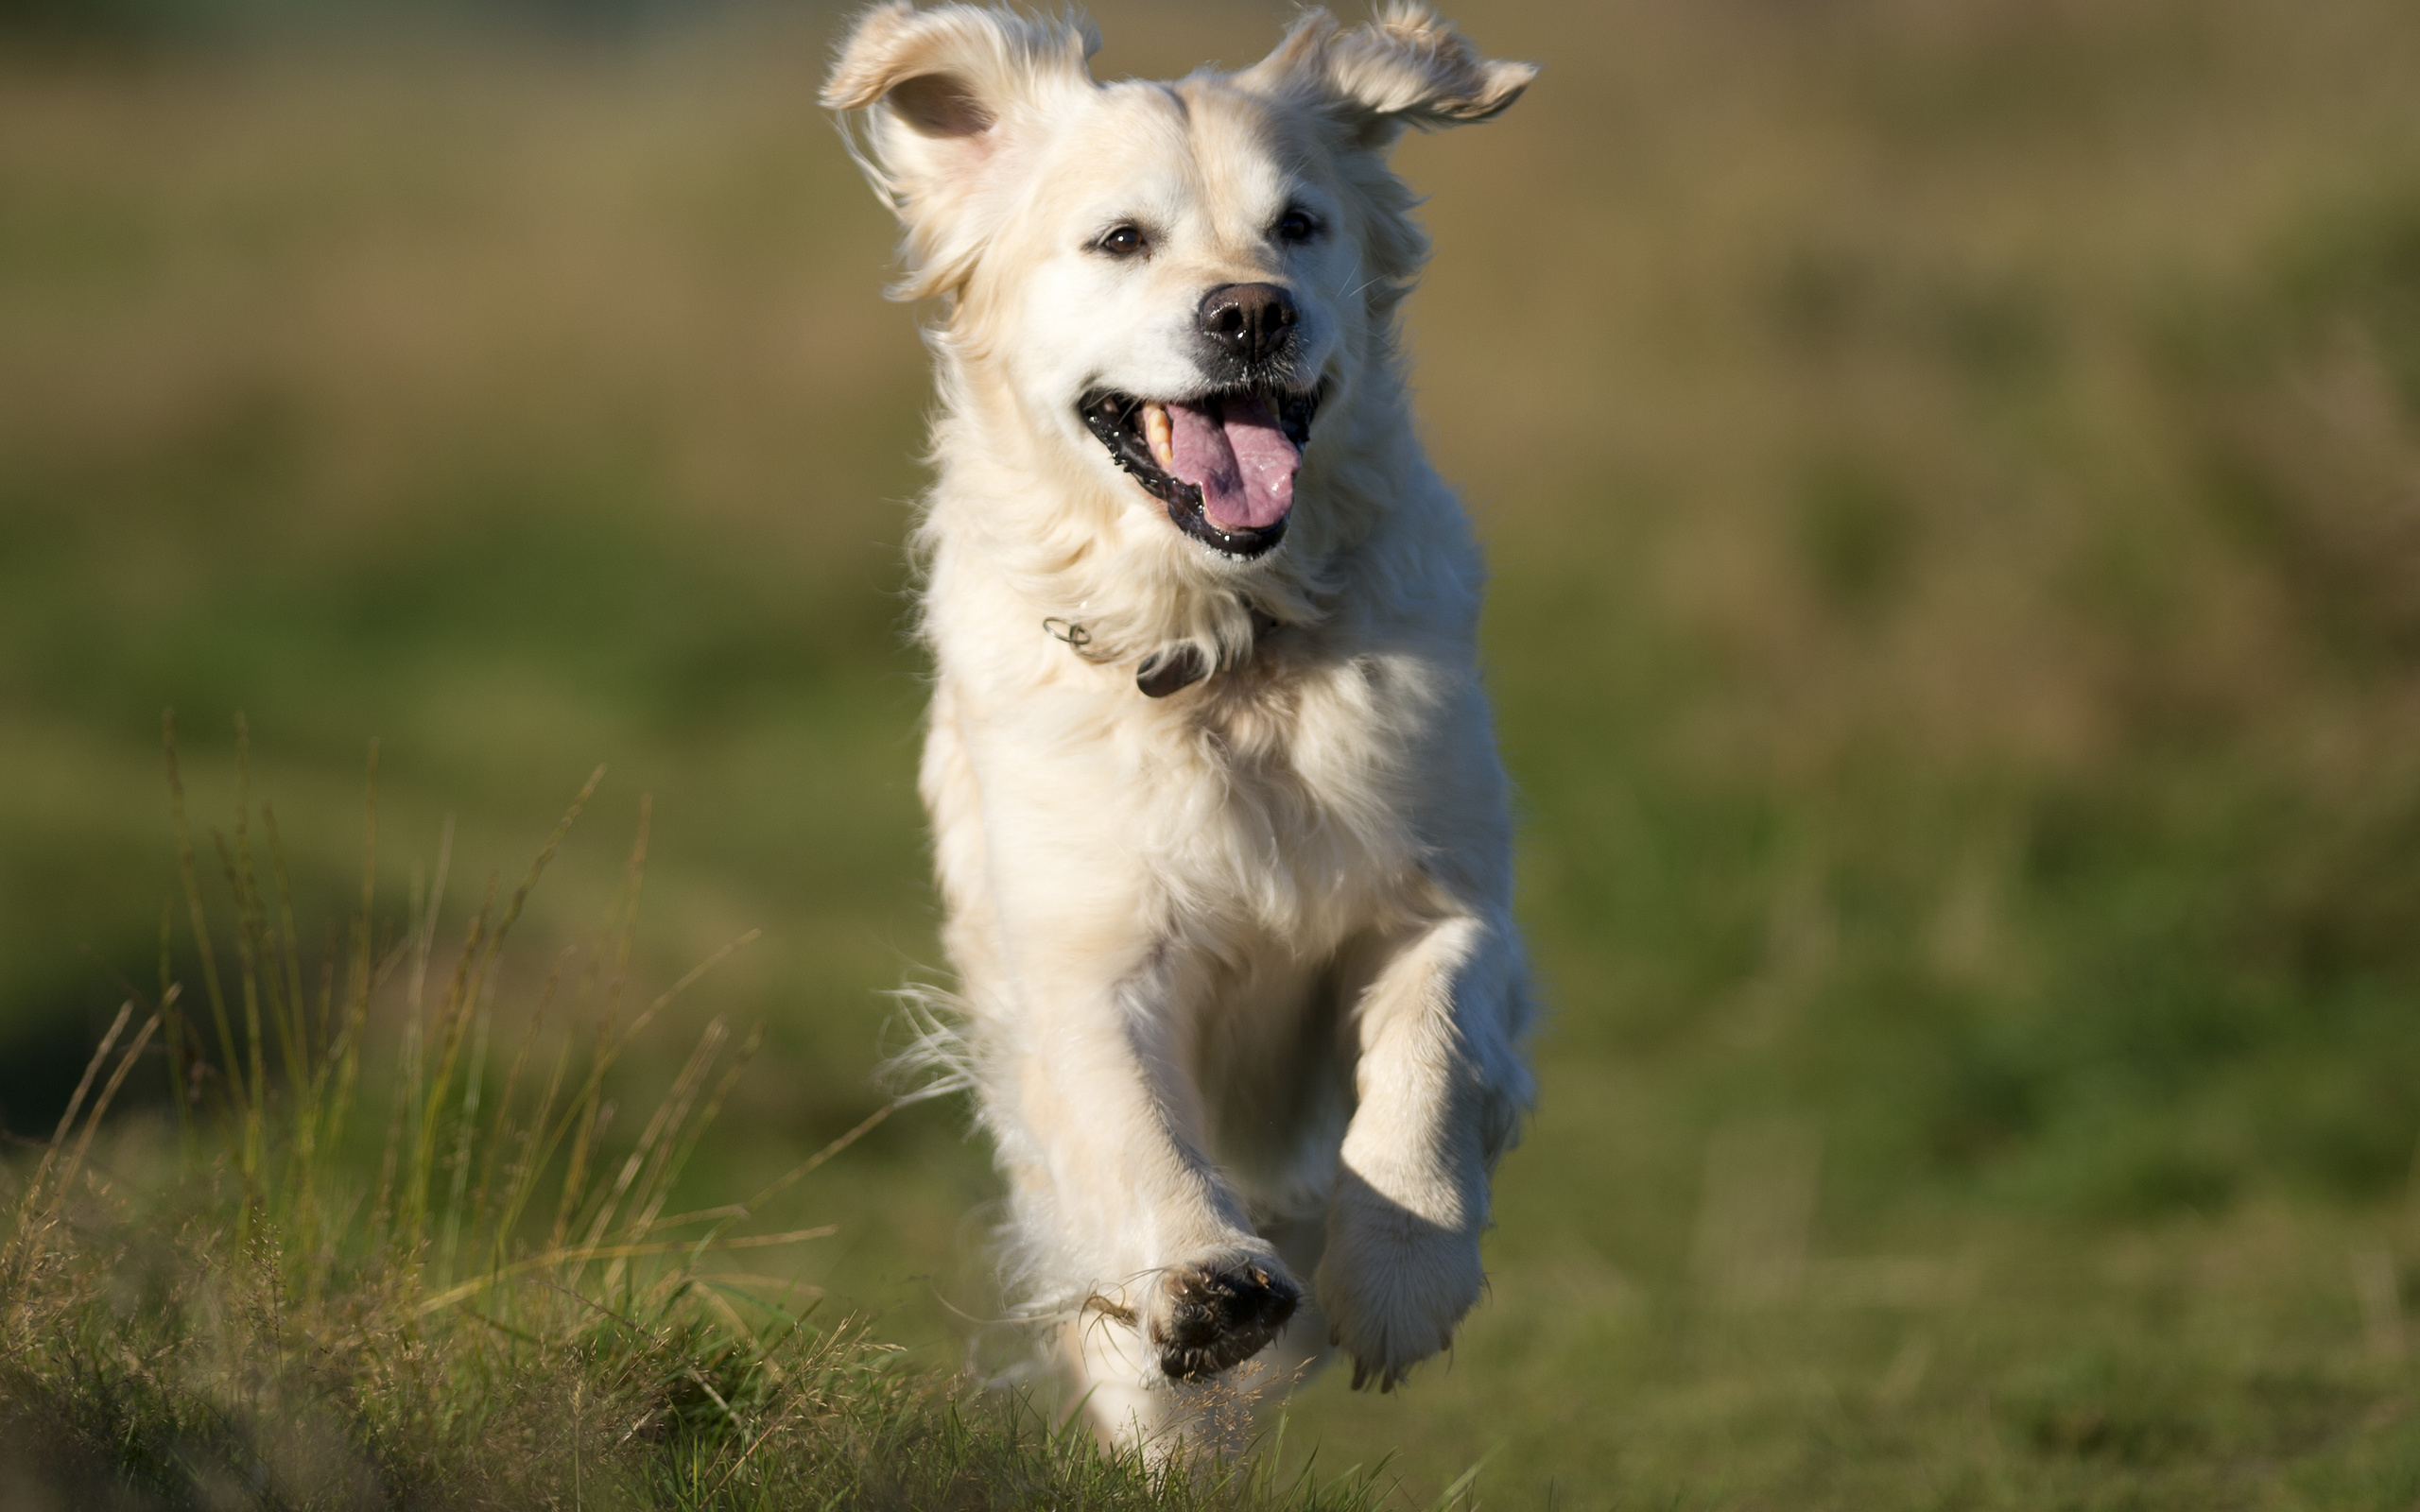
<instances>
[{"instance_id":1,"label":"dog's open mouth with pink tongue and black lips","mask_svg":"<svg viewBox=\"0 0 2420 1512\"><path fill-rule=\"evenodd\" d=\"M1094 389L1077 409L1118 467L1166 503L1193 539L1229 556L1258 556L1285 537L1316 389L1251 387L1198 399Z\"/></svg>"}]
</instances>

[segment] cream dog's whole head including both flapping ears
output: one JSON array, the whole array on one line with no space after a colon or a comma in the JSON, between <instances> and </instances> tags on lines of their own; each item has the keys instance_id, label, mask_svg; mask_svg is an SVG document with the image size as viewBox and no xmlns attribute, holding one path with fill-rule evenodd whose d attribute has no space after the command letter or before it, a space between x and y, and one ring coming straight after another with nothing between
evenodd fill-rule
<instances>
[{"instance_id":1,"label":"cream dog's whole head including both flapping ears","mask_svg":"<svg viewBox=\"0 0 2420 1512\"><path fill-rule=\"evenodd\" d=\"M1411 5L1353 31L1309 12L1254 68L1166 85L1096 85L1096 46L898 0L823 99L864 114L859 162L908 230L895 293L949 300L958 380L1016 409L1038 464L1254 559L1425 256L1387 150L1496 116L1537 70Z\"/></svg>"}]
</instances>

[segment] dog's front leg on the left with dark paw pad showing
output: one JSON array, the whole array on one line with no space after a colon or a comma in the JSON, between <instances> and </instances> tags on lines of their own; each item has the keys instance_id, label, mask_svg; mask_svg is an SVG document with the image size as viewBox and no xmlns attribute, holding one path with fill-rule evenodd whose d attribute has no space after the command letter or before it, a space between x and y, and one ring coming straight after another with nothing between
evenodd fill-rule
<instances>
[{"instance_id":1,"label":"dog's front leg on the left with dark paw pad showing","mask_svg":"<svg viewBox=\"0 0 2420 1512\"><path fill-rule=\"evenodd\" d=\"M1012 1178L1028 1234L1089 1292L1096 1391L1118 1386L1104 1374L1147 1386L1225 1372L1258 1355L1302 1294L1208 1156L1181 977L1157 951L1089 989L1026 982L1014 1067L1026 1147ZM1120 1323L1130 1338L1099 1335Z\"/></svg>"}]
</instances>

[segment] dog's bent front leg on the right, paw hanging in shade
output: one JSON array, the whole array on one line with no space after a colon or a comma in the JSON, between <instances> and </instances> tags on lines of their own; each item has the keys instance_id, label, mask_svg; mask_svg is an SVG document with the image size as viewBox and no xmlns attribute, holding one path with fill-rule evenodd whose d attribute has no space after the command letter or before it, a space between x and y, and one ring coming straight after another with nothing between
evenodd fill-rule
<instances>
[{"instance_id":1,"label":"dog's bent front leg on the right, paw hanging in shade","mask_svg":"<svg viewBox=\"0 0 2420 1512\"><path fill-rule=\"evenodd\" d=\"M1488 1173L1529 1103L1520 992L1510 931L1454 917L1396 948L1360 997L1358 1106L1319 1260L1355 1386L1392 1389L1445 1350L1486 1285Z\"/></svg>"}]
</instances>

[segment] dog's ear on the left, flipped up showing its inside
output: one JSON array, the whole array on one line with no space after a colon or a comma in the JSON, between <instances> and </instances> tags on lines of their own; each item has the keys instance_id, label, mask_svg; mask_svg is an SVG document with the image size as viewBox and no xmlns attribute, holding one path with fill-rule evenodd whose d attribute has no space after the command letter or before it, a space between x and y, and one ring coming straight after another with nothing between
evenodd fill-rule
<instances>
[{"instance_id":1,"label":"dog's ear on the left, flipped up showing its inside","mask_svg":"<svg viewBox=\"0 0 2420 1512\"><path fill-rule=\"evenodd\" d=\"M823 82L845 111L849 155L908 230L903 300L953 293L1014 198L1019 150L1067 92L1091 92L1089 22L1038 22L1007 10L908 0L849 29ZM864 135L849 131L864 123Z\"/></svg>"}]
</instances>

